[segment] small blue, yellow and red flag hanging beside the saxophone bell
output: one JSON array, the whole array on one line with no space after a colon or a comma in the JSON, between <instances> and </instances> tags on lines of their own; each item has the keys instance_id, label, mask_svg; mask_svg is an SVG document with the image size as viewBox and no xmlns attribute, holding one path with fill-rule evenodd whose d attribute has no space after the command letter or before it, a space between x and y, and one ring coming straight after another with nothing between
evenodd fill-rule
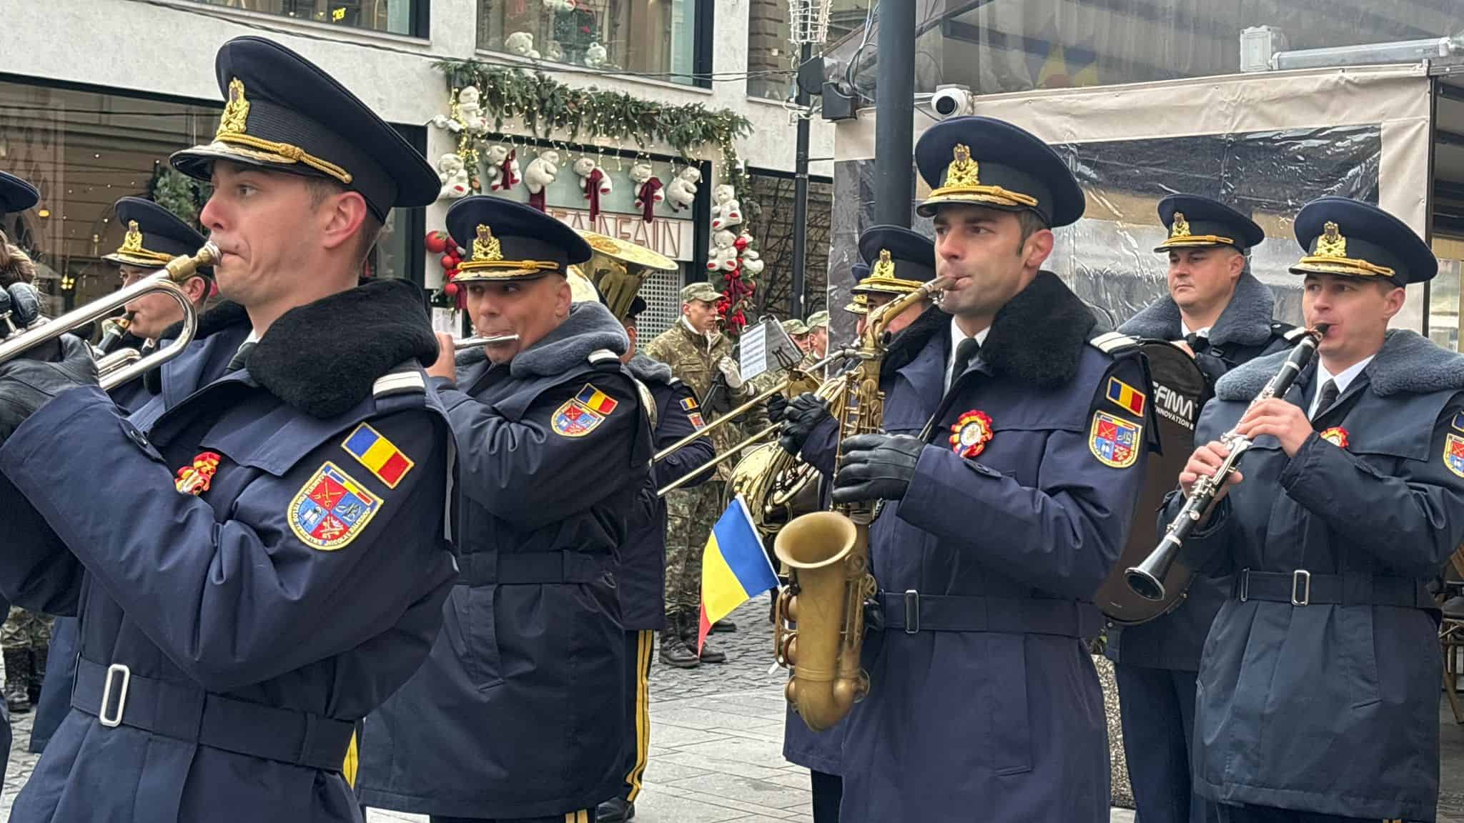
<instances>
[{"instance_id":1,"label":"small blue, yellow and red flag hanging beside the saxophone bell","mask_svg":"<svg viewBox=\"0 0 1464 823\"><path fill-rule=\"evenodd\" d=\"M701 554L701 625L697 652L712 624L732 614L748 597L777 587L777 574L763 552L763 540L741 495L722 513Z\"/></svg>"}]
</instances>

